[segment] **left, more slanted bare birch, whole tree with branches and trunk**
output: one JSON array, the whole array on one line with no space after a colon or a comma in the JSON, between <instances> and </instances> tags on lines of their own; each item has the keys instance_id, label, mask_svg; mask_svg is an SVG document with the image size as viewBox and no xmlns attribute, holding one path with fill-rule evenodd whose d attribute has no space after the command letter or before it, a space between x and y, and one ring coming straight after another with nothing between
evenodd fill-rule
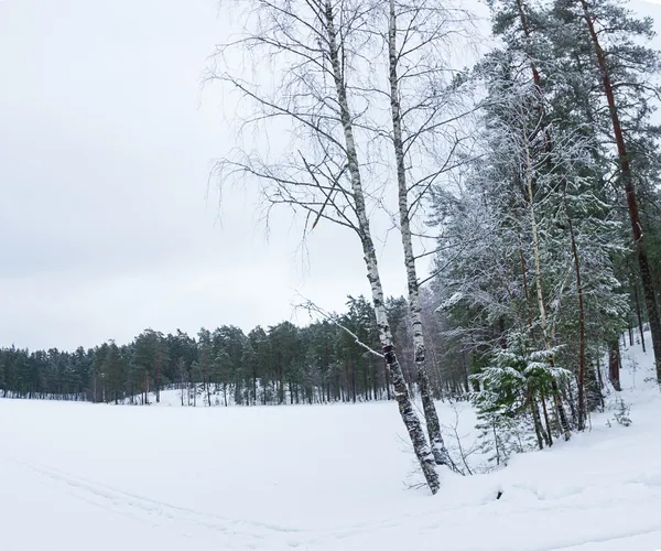
<instances>
[{"instance_id":1,"label":"left, more slanted bare birch, whole tree with branches and trunk","mask_svg":"<svg viewBox=\"0 0 661 551\"><path fill-rule=\"evenodd\" d=\"M236 177L256 182L270 206L304 213L311 228L325 220L357 236L400 414L435 494L440 483L434 457L394 353L368 216L369 201L378 190L361 160L370 99L361 75L369 74L371 48L365 30L372 7L350 0L254 0L245 6L242 35L218 47L212 76L249 104L243 129L275 128L282 120L280 132L293 138L275 155L238 150L218 163L217 174L223 185ZM248 77L232 71L230 56L239 53L252 56ZM275 84L264 83L264 75L273 75Z\"/></svg>"}]
</instances>

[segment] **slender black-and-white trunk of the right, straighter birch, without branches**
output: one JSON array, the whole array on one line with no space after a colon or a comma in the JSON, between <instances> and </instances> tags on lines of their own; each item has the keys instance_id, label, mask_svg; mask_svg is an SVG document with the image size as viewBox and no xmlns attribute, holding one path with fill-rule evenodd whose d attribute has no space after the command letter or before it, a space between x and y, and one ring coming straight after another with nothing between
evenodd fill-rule
<instances>
[{"instance_id":1,"label":"slender black-and-white trunk of the right, straighter birch, without branches","mask_svg":"<svg viewBox=\"0 0 661 551\"><path fill-rule=\"evenodd\" d=\"M397 182L399 190L400 230L402 247L404 249L404 264L407 268L407 283L409 288L409 315L413 333L413 359L418 375L418 386L422 399L422 409L426 420L427 434L432 445L432 453L437 465L448 465L449 457L443 435L438 413L426 369L426 347L422 332L422 307L420 305L420 288L415 270L415 256L413 253L413 238L411 235L411 220L409 216L409 190L407 185L407 169L404 165L404 143L402 138L402 119L399 101L399 79L397 75L397 14L394 0L390 0L390 28L388 33L389 62L390 62L390 112L392 117L392 143L397 161Z\"/></svg>"}]
</instances>

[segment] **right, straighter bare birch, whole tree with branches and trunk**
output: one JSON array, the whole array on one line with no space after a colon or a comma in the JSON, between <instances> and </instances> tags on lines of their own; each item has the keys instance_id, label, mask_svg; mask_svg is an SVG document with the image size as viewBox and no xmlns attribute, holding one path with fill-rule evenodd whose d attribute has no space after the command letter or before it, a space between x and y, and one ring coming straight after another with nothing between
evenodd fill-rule
<instances>
[{"instance_id":1,"label":"right, straighter bare birch, whole tree with branches and trunk","mask_svg":"<svg viewBox=\"0 0 661 551\"><path fill-rule=\"evenodd\" d=\"M452 109L457 90L452 89L447 74L447 47L454 34L466 32L468 13L443 7L435 1L388 1L388 84L391 141L398 183L399 226L404 251L404 266L409 291L409 312L413 339L413 358L422 399L427 433L434 458L447 465L447 450L441 434L438 414L433 400L426 367L426 346L423 334L420 283L413 250L412 216L430 188L441 175L451 170L454 149L460 142L453 125L466 118L465 111ZM403 88L403 90L402 90ZM404 107L402 108L402 101ZM453 134L454 130L454 134ZM440 151L449 149L445 162L438 163ZM425 155L433 151L435 154ZM418 155L414 152L418 151ZM426 160L426 163L424 160ZM411 174L414 161L418 166L429 164L430 170ZM422 162L421 162L422 160ZM407 162L408 161L408 162ZM412 195L412 201L410 201Z\"/></svg>"}]
</instances>

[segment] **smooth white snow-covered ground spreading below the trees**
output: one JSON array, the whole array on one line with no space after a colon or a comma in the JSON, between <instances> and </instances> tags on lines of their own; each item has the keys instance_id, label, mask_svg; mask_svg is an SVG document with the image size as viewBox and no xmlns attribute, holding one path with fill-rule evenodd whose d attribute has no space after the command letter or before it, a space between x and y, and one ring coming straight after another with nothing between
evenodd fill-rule
<instances>
[{"instance_id":1,"label":"smooth white snow-covered ground spreading below the trees","mask_svg":"<svg viewBox=\"0 0 661 551\"><path fill-rule=\"evenodd\" d=\"M0 549L658 550L661 393L650 353L625 356L630 426L608 411L506 469L444 474L435 497L410 489L394 403L0 400Z\"/></svg>"}]
</instances>

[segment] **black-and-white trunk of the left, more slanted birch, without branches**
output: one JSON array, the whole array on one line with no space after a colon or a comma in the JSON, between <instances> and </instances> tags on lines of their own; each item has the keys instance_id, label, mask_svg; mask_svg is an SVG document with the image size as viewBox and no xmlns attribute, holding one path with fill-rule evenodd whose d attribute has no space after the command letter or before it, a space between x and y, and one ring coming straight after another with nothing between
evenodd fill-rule
<instances>
[{"instance_id":1,"label":"black-and-white trunk of the left, more slanted birch, without branches","mask_svg":"<svg viewBox=\"0 0 661 551\"><path fill-rule=\"evenodd\" d=\"M362 191L362 182L360 177L360 169L358 163L358 152L354 140L354 128L351 121L351 115L347 101L346 84L342 74L340 61L339 61L339 48L337 44L337 32L335 29L333 7L330 2L325 4L325 20L326 20L326 32L328 36L329 56L333 66L333 76L335 82L335 88L337 94L337 101L340 111L340 120L344 128L345 147L347 153L348 170L351 179L351 190L354 194L354 202L356 204L356 215L358 218L358 230L360 235L360 241L362 245L362 252L365 255L365 263L367 267L367 279L371 287L372 302L375 305L375 313L377 317L377 326L379 329L379 341L383 349L386 357L386 364L392 376L392 383L394 387L394 397L399 406L400 414L411 442L413 450L420 462L425 480L432 491L436 494L440 488L438 474L436 473L434 465L434 457L430 450L430 446L424 434L424 430L415 413L413 402L409 392L409 387L404 380L402 368L394 354L394 347L392 344L392 334L390 332L390 325L388 323L388 315L386 312L386 303L383 300L383 289L381 287L381 279L379 277L379 267L377 262L377 255L373 246L373 241L370 234L369 220L367 218L367 210L365 205L365 194Z\"/></svg>"}]
</instances>

